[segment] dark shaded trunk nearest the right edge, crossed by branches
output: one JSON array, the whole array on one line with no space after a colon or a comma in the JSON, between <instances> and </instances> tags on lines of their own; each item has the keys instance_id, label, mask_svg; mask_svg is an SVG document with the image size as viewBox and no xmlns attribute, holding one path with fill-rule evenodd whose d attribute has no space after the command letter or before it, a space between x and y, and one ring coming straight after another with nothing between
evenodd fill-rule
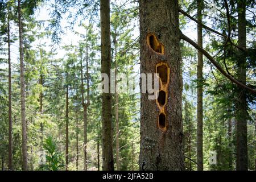
<instances>
[{"instance_id":1,"label":"dark shaded trunk nearest the right edge, crossed by branches","mask_svg":"<svg viewBox=\"0 0 256 182\"><path fill-rule=\"evenodd\" d=\"M246 1L240 0L237 4L238 11L238 47L246 49ZM238 50L238 80L246 83L246 56ZM247 103L246 90L237 88L236 122L237 122L237 170L248 169L247 157Z\"/></svg>"}]
</instances>

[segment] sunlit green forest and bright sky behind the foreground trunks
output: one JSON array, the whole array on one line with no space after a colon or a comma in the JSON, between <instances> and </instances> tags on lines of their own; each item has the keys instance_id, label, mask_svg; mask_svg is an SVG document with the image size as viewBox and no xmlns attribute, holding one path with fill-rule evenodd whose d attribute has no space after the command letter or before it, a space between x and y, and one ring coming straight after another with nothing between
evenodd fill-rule
<instances>
[{"instance_id":1,"label":"sunlit green forest and bright sky behind the foreground trunks","mask_svg":"<svg viewBox=\"0 0 256 182\"><path fill-rule=\"evenodd\" d=\"M26 85L24 89L27 168L28 170L102 170L104 128L102 129L102 98L97 89L101 82L100 1L22 0L20 3ZM203 23L221 34L228 34L229 26L224 1L209 0L203 1L203 4L201 12ZM193 18L197 18L197 1L182 0L179 1L179 6ZM228 7L231 32L229 36L233 43L237 44L236 3L228 1ZM18 18L18 1L0 0L2 170L22 170ZM255 18L255 2L246 1L246 46L251 49L255 49L256 46ZM182 13L179 21L183 34L197 42L197 23ZM110 28L112 69L116 73L125 74L127 78L133 76L138 81L140 75L138 1L110 1ZM230 75L237 76L236 53L231 44L227 44L220 35L203 29L203 47L222 68L228 70ZM204 170L236 170L236 85L217 71L206 57L204 57L203 78L199 80L197 50L184 40L180 41L180 49L185 169L193 171L198 168L197 88L201 85ZM255 65L255 51L252 51L246 59L246 82L254 88ZM128 84L129 81L128 79ZM112 94L113 158L114 167L118 170L139 169L141 93L140 90L136 91L133 94ZM255 95L248 93L245 110L249 170L255 170L256 165L255 109ZM46 159L40 157L44 154L43 151L46 153ZM213 152L217 154L216 164L209 162Z\"/></svg>"}]
</instances>

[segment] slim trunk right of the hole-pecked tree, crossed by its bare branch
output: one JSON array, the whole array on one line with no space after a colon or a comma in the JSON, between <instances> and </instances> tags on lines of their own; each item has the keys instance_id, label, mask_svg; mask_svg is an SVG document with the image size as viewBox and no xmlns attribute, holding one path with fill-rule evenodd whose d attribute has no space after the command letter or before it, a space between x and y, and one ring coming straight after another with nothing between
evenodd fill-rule
<instances>
[{"instance_id":1,"label":"slim trunk right of the hole-pecked tree, crossed by its bare branch","mask_svg":"<svg viewBox=\"0 0 256 182\"><path fill-rule=\"evenodd\" d=\"M202 34L202 10L203 1L197 0L197 44L203 48ZM203 54L197 52L197 171L204 170L203 164Z\"/></svg>"}]
</instances>

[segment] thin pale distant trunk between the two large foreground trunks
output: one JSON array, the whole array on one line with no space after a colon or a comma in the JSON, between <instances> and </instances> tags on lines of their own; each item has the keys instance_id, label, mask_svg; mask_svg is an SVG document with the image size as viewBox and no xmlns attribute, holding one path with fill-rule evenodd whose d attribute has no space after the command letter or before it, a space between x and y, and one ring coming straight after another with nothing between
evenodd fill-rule
<instances>
[{"instance_id":1,"label":"thin pale distant trunk between the two large foreground trunks","mask_svg":"<svg viewBox=\"0 0 256 182\"><path fill-rule=\"evenodd\" d=\"M115 88L117 87L117 74L118 74L118 65L117 65L117 32L114 34L114 47L115 47ZM118 101L118 93L115 92L115 152L116 152L116 163L117 163L117 171L120 169L119 164L119 120L118 120L118 109L119 109L119 101Z\"/></svg>"}]
</instances>

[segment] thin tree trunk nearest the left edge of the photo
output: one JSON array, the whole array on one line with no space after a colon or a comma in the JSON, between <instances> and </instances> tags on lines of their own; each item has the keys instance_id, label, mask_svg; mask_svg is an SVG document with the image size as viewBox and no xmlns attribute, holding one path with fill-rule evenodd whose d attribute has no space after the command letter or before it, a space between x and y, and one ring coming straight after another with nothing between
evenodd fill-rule
<instances>
[{"instance_id":1,"label":"thin tree trunk nearest the left edge of the photo","mask_svg":"<svg viewBox=\"0 0 256 182\"><path fill-rule=\"evenodd\" d=\"M8 168L13 170L13 121L11 118L11 43L10 43L10 9L8 9L7 20L7 41L8 41L8 104L9 104L9 147L8 147Z\"/></svg>"}]
</instances>

